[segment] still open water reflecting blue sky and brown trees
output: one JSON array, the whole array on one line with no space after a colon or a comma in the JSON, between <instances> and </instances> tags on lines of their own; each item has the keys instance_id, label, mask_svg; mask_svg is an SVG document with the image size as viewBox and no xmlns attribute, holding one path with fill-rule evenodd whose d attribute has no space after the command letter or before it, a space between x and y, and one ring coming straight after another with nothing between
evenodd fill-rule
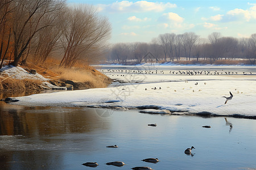
<instances>
[{"instance_id":1,"label":"still open water reflecting blue sky and brown trees","mask_svg":"<svg viewBox=\"0 0 256 170\"><path fill-rule=\"evenodd\" d=\"M0 169L253 169L256 120L0 103ZM157 124L156 127L147 124ZM202 128L210 125L212 128ZM117 145L118 148L106 148ZM193 156L184 150L194 146ZM142 159L158 158L159 163ZM114 167L105 163L122 161Z\"/></svg>"}]
</instances>

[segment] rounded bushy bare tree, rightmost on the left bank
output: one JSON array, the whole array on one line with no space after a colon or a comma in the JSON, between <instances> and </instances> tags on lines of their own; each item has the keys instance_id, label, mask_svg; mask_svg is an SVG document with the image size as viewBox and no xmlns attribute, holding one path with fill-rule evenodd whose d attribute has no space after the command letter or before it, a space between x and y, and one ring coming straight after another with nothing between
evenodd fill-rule
<instances>
[{"instance_id":1,"label":"rounded bushy bare tree, rightmost on the left bank","mask_svg":"<svg viewBox=\"0 0 256 170\"><path fill-rule=\"evenodd\" d=\"M71 67L77 61L90 61L108 47L111 27L108 19L98 16L93 6L68 8L61 43L64 56L60 66ZM95 56L94 58L92 56Z\"/></svg>"}]
</instances>

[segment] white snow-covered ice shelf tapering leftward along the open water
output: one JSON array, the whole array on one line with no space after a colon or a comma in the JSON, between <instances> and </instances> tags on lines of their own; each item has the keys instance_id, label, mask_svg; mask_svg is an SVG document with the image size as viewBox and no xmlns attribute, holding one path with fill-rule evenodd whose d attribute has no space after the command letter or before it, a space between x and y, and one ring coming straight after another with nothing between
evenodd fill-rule
<instances>
[{"instance_id":1,"label":"white snow-covered ice shelf tapering leftward along the open water","mask_svg":"<svg viewBox=\"0 0 256 170\"><path fill-rule=\"evenodd\" d=\"M196 85L196 83L198 83ZM159 89L161 87L161 89ZM131 84L16 97L13 104L103 108L158 108L185 114L255 117L255 80L205 80ZM151 89L153 88L153 89ZM154 90L156 88L156 90ZM147 90L146 90L147 89ZM225 103L229 91L233 99ZM156 111L159 112L159 111Z\"/></svg>"}]
</instances>

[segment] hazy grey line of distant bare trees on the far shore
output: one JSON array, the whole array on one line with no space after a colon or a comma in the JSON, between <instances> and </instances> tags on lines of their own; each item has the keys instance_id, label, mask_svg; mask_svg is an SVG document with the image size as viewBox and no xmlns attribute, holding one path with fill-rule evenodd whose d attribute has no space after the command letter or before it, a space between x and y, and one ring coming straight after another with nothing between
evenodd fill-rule
<instances>
[{"instance_id":1,"label":"hazy grey line of distant bare trees on the far shore","mask_svg":"<svg viewBox=\"0 0 256 170\"><path fill-rule=\"evenodd\" d=\"M150 53L151 55L148 55ZM150 57L148 57L150 56ZM221 33L213 32L208 40L200 39L194 32L185 32L180 35L164 33L152 39L150 43L133 42L117 43L109 49L105 56L108 61L127 64L127 62L141 63L148 60L179 61L200 59L248 59L250 64L256 61L256 33L249 38L236 39L222 37Z\"/></svg>"}]
</instances>

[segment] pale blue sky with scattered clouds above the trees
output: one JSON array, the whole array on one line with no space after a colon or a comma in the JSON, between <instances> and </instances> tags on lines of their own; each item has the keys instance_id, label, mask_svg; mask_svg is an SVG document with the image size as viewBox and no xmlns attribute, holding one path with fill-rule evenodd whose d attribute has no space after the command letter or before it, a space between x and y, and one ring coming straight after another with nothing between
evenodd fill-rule
<instances>
[{"instance_id":1,"label":"pale blue sky with scattered clouds above the trees","mask_svg":"<svg viewBox=\"0 0 256 170\"><path fill-rule=\"evenodd\" d=\"M212 32L236 38L256 33L256 1L112 1L68 0L93 5L112 25L111 43L150 42L164 33Z\"/></svg>"}]
</instances>

